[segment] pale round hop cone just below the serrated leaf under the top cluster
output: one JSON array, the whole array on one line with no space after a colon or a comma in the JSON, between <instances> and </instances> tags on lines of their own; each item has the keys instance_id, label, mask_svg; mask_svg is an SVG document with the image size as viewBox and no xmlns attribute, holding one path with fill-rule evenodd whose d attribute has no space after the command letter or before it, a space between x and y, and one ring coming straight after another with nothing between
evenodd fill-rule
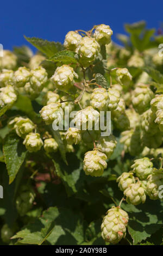
<instances>
[{"instance_id":1,"label":"pale round hop cone just below the serrated leaf under the top cluster","mask_svg":"<svg viewBox=\"0 0 163 256\"><path fill-rule=\"evenodd\" d=\"M55 70L52 81L59 90L68 92L73 87L74 78L78 78L78 75L74 72L73 68L68 65L62 65L58 66Z\"/></svg>"}]
</instances>

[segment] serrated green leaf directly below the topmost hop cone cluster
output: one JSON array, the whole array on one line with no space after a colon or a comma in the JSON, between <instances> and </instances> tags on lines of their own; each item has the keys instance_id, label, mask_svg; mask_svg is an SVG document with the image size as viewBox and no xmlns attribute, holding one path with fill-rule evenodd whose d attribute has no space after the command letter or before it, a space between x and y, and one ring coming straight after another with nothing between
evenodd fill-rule
<instances>
[{"instance_id":1,"label":"serrated green leaf directly below the topmost hop cone cluster","mask_svg":"<svg viewBox=\"0 0 163 256\"><path fill-rule=\"evenodd\" d=\"M55 53L47 60L51 62L62 62L63 64L77 63L77 59L75 58L75 56L75 52L64 50Z\"/></svg>"}]
</instances>

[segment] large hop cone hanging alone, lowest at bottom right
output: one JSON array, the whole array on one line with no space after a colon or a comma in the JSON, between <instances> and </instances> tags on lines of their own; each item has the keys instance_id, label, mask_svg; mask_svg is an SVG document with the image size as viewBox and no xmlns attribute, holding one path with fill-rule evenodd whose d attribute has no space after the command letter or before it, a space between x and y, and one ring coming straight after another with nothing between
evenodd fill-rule
<instances>
[{"instance_id":1,"label":"large hop cone hanging alone, lowest at bottom right","mask_svg":"<svg viewBox=\"0 0 163 256\"><path fill-rule=\"evenodd\" d=\"M122 238L126 237L128 220L126 211L123 211L119 206L112 206L106 212L101 225L103 239L113 245L120 242Z\"/></svg>"}]
</instances>

